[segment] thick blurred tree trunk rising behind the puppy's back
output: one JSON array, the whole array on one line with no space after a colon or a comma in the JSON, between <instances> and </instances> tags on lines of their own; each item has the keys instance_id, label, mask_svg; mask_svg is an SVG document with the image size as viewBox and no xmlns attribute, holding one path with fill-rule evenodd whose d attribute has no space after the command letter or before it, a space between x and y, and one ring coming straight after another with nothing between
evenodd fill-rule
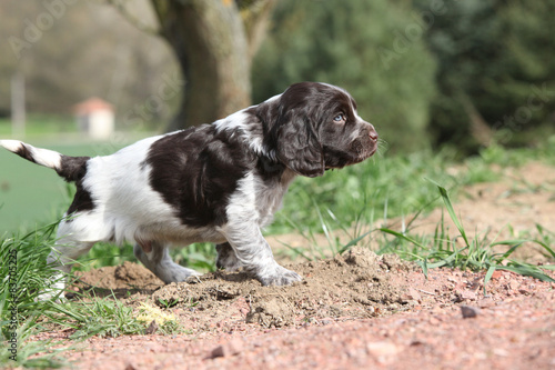
<instances>
[{"instance_id":1,"label":"thick blurred tree trunk rising behind the puppy's back","mask_svg":"<svg viewBox=\"0 0 555 370\"><path fill-rule=\"evenodd\" d=\"M251 103L251 60L274 0L151 0L185 80L169 130L210 123Z\"/></svg>"}]
</instances>

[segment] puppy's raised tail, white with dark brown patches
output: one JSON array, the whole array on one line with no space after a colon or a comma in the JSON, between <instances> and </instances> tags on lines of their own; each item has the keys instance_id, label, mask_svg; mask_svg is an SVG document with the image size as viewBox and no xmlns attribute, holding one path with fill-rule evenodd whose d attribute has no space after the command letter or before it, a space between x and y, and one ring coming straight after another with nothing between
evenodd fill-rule
<instances>
[{"instance_id":1,"label":"puppy's raised tail, white with dark brown patches","mask_svg":"<svg viewBox=\"0 0 555 370\"><path fill-rule=\"evenodd\" d=\"M34 148L19 140L0 140L0 147L33 163L51 168L65 181L77 181L87 173L90 157L68 157L57 151Z\"/></svg>"}]
</instances>

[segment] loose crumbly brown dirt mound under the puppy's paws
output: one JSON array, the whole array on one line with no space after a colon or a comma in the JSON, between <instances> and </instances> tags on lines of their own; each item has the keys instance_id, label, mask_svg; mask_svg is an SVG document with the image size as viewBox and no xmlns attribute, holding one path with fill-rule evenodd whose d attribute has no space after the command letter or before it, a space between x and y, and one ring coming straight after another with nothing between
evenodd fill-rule
<instances>
[{"instance_id":1,"label":"loose crumbly brown dirt mound under the puppy's paws","mask_svg":"<svg viewBox=\"0 0 555 370\"><path fill-rule=\"evenodd\" d=\"M262 287L244 272L216 271L163 286L142 266L130 262L84 272L80 280L95 290L111 289L120 297L129 296L128 291L148 296L144 299L153 304L184 313L183 319L194 321L194 327L246 319L270 328L322 318L369 318L398 310L406 303L407 284L398 272L408 271L412 264L396 256L376 256L353 248L333 259L289 268L304 280L291 287Z\"/></svg>"}]
</instances>

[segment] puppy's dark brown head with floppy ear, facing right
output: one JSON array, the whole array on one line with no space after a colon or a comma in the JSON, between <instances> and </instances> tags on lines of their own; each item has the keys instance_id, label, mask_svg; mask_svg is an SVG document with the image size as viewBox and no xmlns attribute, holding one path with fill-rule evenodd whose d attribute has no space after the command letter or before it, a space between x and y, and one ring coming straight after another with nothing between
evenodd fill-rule
<instances>
[{"instance_id":1,"label":"puppy's dark brown head with floppy ear, facing right","mask_svg":"<svg viewBox=\"0 0 555 370\"><path fill-rule=\"evenodd\" d=\"M266 147L294 172L316 177L362 162L377 149L377 133L343 89L317 82L292 84L272 104ZM264 103L263 103L264 104Z\"/></svg>"}]
</instances>

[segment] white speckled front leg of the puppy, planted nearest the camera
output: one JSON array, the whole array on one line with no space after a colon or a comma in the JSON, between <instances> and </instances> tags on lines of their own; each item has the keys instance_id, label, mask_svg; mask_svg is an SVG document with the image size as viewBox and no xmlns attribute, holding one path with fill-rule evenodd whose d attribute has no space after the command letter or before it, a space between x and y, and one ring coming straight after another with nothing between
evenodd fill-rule
<instances>
[{"instance_id":1,"label":"white speckled front leg of the puppy, planted nearest the camera","mask_svg":"<svg viewBox=\"0 0 555 370\"><path fill-rule=\"evenodd\" d=\"M258 226L231 226L222 230L238 261L263 286L289 286L301 281L299 273L275 262L272 249Z\"/></svg>"}]
</instances>

